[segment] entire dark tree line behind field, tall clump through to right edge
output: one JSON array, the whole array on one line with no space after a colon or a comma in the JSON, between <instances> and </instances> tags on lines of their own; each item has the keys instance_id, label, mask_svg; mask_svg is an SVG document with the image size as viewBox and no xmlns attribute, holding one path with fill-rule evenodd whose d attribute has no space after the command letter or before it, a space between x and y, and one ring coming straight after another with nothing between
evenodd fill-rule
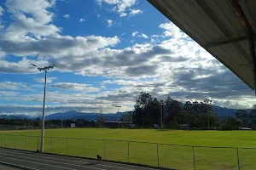
<instances>
[{"instance_id":1,"label":"entire dark tree line behind field, tall clump through to right edge","mask_svg":"<svg viewBox=\"0 0 256 170\"><path fill-rule=\"evenodd\" d=\"M220 122L210 99L182 103L170 97L158 100L150 94L141 93L134 105L134 111L130 114L137 127L153 127L154 124L162 123L165 128L174 129L179 129L180 124L187 124L194 129L256 129L256 105L249 113L238 110L236 116L226 117Z\"/></svg>"}]
</instances>

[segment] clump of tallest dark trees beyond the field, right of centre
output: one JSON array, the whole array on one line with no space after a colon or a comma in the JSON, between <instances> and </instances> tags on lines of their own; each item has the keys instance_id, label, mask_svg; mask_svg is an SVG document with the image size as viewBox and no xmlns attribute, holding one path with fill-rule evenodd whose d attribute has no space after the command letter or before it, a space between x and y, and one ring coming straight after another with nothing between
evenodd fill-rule
<instances>
[{"instance_id":1,"label":"clump of tallest dark trees beyond the field, right of centre","mask_svg":"<svg viewBox=\"0 0 256 170\"><path fill-rule=\"evenodd\" d=\"M180 128L180 124L188 124L189 127L207 129L219 125L210 99L183 104L170 97L159 101L147 93L139 94L131 117L138 127L163 124L166 128Z\"/></svg>"}]
</instances>

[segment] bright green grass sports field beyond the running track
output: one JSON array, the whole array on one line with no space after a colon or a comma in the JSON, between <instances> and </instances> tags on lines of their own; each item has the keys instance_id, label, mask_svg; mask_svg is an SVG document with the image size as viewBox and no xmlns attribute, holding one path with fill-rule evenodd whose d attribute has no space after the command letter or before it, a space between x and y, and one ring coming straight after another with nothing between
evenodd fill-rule
<instances>
[{"instance_id":1,"label":"bright green grass sports field beyond the running track","mask_svg":"<svg viewBox=\"0 0 256 170\"><path fill-rule=\"evenodd\" d=\"M18 133L15 131L0 131L0 146L5 147L6 136L6 145L9 148L37 150L39 135L40 131L38 130L33 132L19 131ZM54 138L51 139L50 137ZM157 147L157 144L129 142L128 152L128 142L126 141L104 141L101 139L160 144ZM254 148L256 132L68 128L45 130L44 139L45 152L93 158L96 157L96 154L100 154L103 157L105 156L107 160L130 161L152 166L158 166L158 148L160 167L177 169L194 169L192 145ZM196 169L238 169L236 148L195 147L194 150ZM241 169L256 169L254 161L256 150L239 149L238 151Z\"/></svg>"}]
</instances>

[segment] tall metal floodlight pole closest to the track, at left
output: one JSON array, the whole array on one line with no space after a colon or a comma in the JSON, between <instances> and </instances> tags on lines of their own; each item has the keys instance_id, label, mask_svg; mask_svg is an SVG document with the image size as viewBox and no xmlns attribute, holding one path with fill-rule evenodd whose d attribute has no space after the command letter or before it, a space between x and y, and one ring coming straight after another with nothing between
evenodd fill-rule
<instances>
[{"instance_id":1,"label":"tall metal floodlight pole closest to the track, at left","mask_svg":"<svg viewBox=\"0 0 256 170\"><path fill-rule=\"evenodd\" d=\"M44 71L45 77L44 77L44 104L43 104L43 117L42 117L42 129L41 129L41 145L40 145L40 151L44 152L44 122L45 122L45 94L46 94L46 77L47 77L47 71L49 69L53 69L57 65L51 65L51 66L45 66L44 68L39 68L37 65L32 64L33 66L38 68L38 71Z\"/></svg>"}]
</instances>

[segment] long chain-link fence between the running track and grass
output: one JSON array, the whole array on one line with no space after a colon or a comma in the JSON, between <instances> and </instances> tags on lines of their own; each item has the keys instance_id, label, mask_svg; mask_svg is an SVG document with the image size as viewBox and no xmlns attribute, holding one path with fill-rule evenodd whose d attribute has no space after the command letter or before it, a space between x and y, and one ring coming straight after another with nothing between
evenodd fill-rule
<instances>
[{"instance_id":1,"label":"long chain-link fence between the running track and grass","mask_svg":"<svg viewBox=\"0 0 256 170\"><path fill-rule=\"evenodd\" d=\"M0 134L0 147L39 149L40 137ZM175 169L256 169L256 149L109 140L44 138L44 152Z\"/></svg>"}]
</instances>

